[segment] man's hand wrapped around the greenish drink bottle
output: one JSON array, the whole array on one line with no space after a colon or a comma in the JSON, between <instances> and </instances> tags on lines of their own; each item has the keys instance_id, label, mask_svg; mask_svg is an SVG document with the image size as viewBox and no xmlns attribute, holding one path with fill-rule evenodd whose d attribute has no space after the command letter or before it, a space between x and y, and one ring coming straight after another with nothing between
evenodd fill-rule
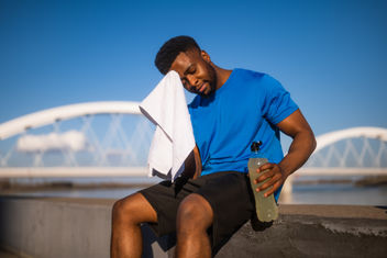
<instances>
[{"instance_id":1,"label":"man's hand wrapped around the greenish drink bottle","mask_svg":"<svg viewBox=\"0 0 387 258\"><path fill-rule=\"evenodd\" d=\"M268 179L267 182L256 189L256 191L261 192L269 188L264 194L267 198L268 195L273 194L280 186L284 184L287 177L285 176L283 169L278 166L278 164L264 164L256 170L256 172L259 173L264 170L267 171L264 172L261 177L258 177L255 180L255 183L259 183Z\"/></svg>"}]
</instances>

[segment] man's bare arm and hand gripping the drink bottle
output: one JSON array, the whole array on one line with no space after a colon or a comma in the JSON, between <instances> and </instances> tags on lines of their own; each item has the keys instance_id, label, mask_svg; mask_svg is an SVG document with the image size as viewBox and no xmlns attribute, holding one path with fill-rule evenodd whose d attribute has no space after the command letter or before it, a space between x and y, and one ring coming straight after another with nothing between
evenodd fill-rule
<instances>
[{"instance_id":1,"label":"man's bare arm and hand gripping the drink bottle","mask_svg":"<svg viewBox=\"0 0 387 258\"><path fill-rule=\"evenodd\" d=\"M272 188L265 193L265 197L274 193L292 172L308 160L316 148L314 134L300 110L295 111L279 122L277 126L281 132L289 135L292 142L288 154L278 165L265 164L257 170L257 172L269 170L256 179L257 183L270 178L270 180L257 188L258 191Z\"/></svg>"}]
</instances>

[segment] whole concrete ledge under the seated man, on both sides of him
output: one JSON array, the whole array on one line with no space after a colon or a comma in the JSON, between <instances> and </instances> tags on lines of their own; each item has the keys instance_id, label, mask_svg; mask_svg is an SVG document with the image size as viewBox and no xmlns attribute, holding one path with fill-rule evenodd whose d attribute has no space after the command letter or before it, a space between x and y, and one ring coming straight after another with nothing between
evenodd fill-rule
<instances>
[{"instance_id":1,"label":"whole concrete ledge under the seated man, on both sides of him","mask_svg":"<svg viewBox=\"0 0 387 258\"><path fill-rule=\"evenodd\" d=\"M0 197L0 246L21 257L109 257L114 200ZM246 223L217 257L385 257L387 207L280 205L264 232ZM174 236L143 226L143 257L172 257Z\"/></svg>"}]
</instances>

